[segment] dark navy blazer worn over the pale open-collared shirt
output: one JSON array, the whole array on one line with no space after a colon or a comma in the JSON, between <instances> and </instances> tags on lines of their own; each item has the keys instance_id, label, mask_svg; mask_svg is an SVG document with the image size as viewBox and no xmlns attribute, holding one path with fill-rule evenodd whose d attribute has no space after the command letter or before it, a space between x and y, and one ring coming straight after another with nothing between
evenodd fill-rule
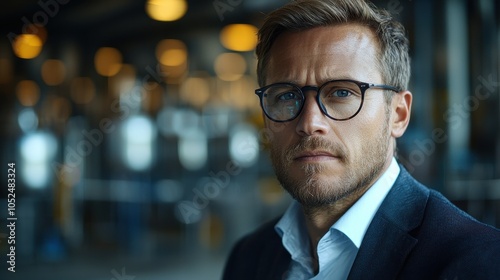
<instances>
[{"instance_id":1,"label":"dark navy blazer worn over the pale open-collared shirt","mask_svg":"<svg viewBox=\"0 0 500 280\"><path fill-rule=\"evenodd\" d=\"M236 244L223 279L286 279L291 259L274 230L276 222ZM401 166L348 279L498 280L500 230L478 222Z\"/></svg>"}]
</instances>

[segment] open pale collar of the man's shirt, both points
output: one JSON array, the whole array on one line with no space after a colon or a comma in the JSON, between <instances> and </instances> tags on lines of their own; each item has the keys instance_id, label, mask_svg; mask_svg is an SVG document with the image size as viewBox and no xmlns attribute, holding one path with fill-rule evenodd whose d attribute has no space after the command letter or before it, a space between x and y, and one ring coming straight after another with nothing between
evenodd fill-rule
<instances>
[{"instance_id":1,"label":"open pale collar of the man's shirt, both points","mask_svg":"<svg viewBox=\"0 0 500 280\"><path fill-rule=\"evenodd\" d=\"M399 172L399 165L396 159L392 158L391 164L384 174L332 225L331 229L343 232L359 248L368 226L392 185L394 185ZM302 207L297 201L293 201L288 207L283 217L276 224L275 230L282 238L285 248L292 253L292 258L294 258L294 252L302 251L300 247L303 244L308 244L309 238L305 228Z\"/></svg>"}]
</instances>

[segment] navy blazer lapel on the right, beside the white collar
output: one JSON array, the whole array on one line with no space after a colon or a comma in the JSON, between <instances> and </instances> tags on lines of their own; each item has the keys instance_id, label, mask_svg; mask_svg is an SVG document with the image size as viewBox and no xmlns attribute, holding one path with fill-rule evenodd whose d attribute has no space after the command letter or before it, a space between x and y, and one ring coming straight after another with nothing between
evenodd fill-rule
<instances>
[{"instance_id":1,"label":"navy blazer lapel on the right, beside the white collar","mask_svg":"<svg viewBox=\"0 0 500 280\"><path fill-rule=\"evenodd\" d=\"M418 240L429 190L402 167L368 227L348 279L395 279Z\"/></svg>"}]
</instances>

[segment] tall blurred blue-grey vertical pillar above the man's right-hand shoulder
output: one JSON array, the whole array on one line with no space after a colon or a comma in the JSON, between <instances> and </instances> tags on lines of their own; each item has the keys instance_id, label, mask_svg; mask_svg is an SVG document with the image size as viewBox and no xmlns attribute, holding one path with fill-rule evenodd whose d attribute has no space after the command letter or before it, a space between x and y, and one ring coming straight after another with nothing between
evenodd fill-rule
<instances>
[{"instance_id":1,"label":"tall blurred blue-grey vertical pillar above the man's right-hand shoulder","mask_svg":"<svg viewBox=\"0 0 500 280\"><path fill-rule=\"evenodd\" d=\"M469 56L467 1L447 0L446 40L448 68L448 125L449 174L467 170L470 142Z\"/></svg>"}]
</instances>

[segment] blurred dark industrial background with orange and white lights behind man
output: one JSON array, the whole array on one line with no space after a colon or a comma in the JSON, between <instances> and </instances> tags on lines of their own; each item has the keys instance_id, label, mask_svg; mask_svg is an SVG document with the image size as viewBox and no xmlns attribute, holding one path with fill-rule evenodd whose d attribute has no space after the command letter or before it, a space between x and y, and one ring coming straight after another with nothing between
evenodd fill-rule
<instances>
[{"instance_id":1,"label":"blurred dark industrial background with orange and white lights behind man","mask_svg":"<svg viewBox=\"0 0 500 280\"><path fill-rule=\"evenodd\" d=\"M219 279L290 202L253 94L255 33L286 2L3 1L0 278ZM500 226L500 3L375 3L411 41L400 162Z\"/></svg>"}]
</instances>

